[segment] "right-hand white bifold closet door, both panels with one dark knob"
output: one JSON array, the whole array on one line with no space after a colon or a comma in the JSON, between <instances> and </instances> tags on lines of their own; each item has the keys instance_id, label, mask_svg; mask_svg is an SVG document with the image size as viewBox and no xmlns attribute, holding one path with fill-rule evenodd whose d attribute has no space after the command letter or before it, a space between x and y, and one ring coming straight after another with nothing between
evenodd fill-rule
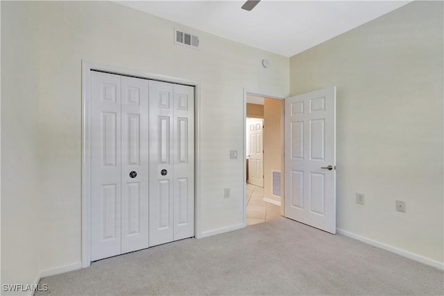
<instances>
[{"instance_id":1,"label":"right-hand white bifold closet door, both panels with one dark knob","mask_svg":"<svg viewBox=\"0 0 444 296\"><path fill-rule=\"evenodd\" d=\"M194 236L194 88L150 81L149 93L154 246Z\"/></svg>"}]
</instances>

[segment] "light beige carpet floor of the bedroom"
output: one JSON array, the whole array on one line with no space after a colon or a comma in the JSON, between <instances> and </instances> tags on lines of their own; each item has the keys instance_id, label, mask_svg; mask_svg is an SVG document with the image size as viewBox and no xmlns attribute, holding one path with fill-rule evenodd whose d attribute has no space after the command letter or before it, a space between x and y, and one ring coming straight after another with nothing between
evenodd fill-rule
<instances>
[{"instance_id":1,"label":"light beige carpet floor of the bedroom","mask_svg":"<svg viewBox=\"0 0 444 296\"><path fill-rule=\"evenodd\" d=\"M35 295L443 295L444 272L287 218L45 277Z\"/></svg>"}]
</instances>

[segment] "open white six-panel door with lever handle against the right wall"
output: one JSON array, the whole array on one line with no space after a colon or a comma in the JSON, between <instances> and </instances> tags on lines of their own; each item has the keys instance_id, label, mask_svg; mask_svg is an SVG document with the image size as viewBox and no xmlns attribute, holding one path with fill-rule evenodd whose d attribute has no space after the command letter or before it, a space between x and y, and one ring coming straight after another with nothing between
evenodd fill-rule
<instances>
[{"instance_id":1,"label":"open white six-panel door with lever handle against the right wall","mask_svg":"<svg viewBox=\"0 0 444 296\"><path fill-rule=\"evenodd\" d=\"M336 88L285 99L285 216L336 233Z\"/></svg>"}]
</instances>

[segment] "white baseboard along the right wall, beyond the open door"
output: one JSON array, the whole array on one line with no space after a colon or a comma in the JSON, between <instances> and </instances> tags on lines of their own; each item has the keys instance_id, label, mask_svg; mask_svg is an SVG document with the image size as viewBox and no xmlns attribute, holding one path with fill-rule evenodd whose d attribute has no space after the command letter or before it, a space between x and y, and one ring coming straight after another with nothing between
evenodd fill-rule
<instances>
[{"instance_id":1,"label":"white baseboard along the right wall, beyond the open door","mask_svg":"<svg viewBox=\"0 0 444 296\"><path fill-rule=\"evenodd\" d=\"M348 236L349 238L354 238L355 240L359 240L361 242L365 242L367 245L371 245L373 247L377 247L379 249L384 249L388 252L392 252L394 254L400 255L405 258L409 258L413 261L423 263L425 265L433 266L434 268L438 268L438 270L444 270L444 263L436 261L431 258L427 258L425 256L421 256L404 249L400 249L398 247L393 247L391 245L384 244L384 242L378 242L377 240L372 240L370 238L364 238L364 236L359 236L355 233L351 233L349 231L343 229L336 229L336 232L342 234L343 236Z\"/></svg>"}]
</instances>

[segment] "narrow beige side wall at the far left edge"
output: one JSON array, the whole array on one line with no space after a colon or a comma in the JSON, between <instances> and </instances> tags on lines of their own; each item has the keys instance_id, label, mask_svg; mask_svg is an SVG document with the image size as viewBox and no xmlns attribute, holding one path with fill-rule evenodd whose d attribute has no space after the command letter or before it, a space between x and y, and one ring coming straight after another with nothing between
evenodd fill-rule
<instances>
[{"instance_id":1,"label":"narrow beige side wall at the far left edge","mask_svg":"<svg viewBox=\"0 0 444 296\"><path fill-rule=\"evenodd\" d=\"M35 283L40 272L37 53L33 10L1 3L1 283ZM7 10L6 10L7 11ZM29 17L21 17L28 15ZM6 25L7 24L7 25ZM6 294L1 288L1 294ZM15 295L26 293L15 293Z\"/></svg>"}]
</instances>

